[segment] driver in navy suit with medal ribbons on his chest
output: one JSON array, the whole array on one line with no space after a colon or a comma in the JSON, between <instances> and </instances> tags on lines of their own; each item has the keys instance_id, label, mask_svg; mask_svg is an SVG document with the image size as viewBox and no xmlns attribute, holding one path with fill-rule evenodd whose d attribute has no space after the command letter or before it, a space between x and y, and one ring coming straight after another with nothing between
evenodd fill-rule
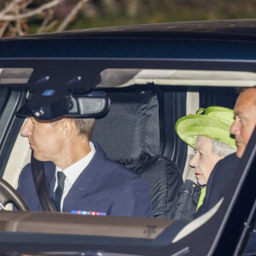
<instances>
[{"instance_id":1,"label":"driver in navy suit with medal ribbons on his chest","mask_svg":"<svg viewBox=\"0 0 256 256\"><path fill-rule=\"evenodd\" d=\"M35 159L44 161L49 195L60 212L151 217L148 185L142 177L109 160L90 137L95 119L40 121L28 117L21 136L28 137ZM116 148L118 150L118 148ZM20 173L18 192L32 211L41 211L31 164Z\"/></svg>"}]
</instances>

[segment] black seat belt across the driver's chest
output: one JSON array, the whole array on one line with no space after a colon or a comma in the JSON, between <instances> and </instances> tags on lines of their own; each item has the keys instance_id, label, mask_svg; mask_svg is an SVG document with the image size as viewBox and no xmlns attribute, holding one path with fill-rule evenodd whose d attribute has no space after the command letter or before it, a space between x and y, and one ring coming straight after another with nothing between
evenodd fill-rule
<instances>
[{"instance_id":1,"label":"black seat belt across the driver's chest","mask_svg":"<svg viewBox=\"0 0 256 256\"><path fill-rule=\"evenodd\" d=\"M35 183L36 191L38 194L38 199L43 211L57 212L55 209L55 205L49 197L49 192L45 181L44 162L36 160L34 158L33 151L31 154L31 168L33 181Z\"/></svg>"}]
</instances>

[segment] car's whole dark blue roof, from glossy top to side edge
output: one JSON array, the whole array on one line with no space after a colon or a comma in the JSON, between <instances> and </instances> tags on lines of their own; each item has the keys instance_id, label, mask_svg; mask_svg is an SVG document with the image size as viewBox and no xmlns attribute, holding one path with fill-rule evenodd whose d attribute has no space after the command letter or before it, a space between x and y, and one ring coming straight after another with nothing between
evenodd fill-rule
<instances>
[{"instance_id":1,"label":"car's whole dark blue roof, from glossy top to side edge","mask_svg":"<svg viewBox=\"0 0 256 256\"><path fill-rule=\"evenodd\" d=\"M212 44L218 40L219 43ZM229 51L226 44L234 42ZM114 26L0 39L4 58L254 59L256 20ZM236 42L236 43L235 43ZM247 42L247 47L243 44ZM239 54L235 52L239 47ZM236 48L236 49L235 49ZM172 49L172 50L170 50ZM248 52L250 52L248 54Z\"/></svg>"}]
</instances>

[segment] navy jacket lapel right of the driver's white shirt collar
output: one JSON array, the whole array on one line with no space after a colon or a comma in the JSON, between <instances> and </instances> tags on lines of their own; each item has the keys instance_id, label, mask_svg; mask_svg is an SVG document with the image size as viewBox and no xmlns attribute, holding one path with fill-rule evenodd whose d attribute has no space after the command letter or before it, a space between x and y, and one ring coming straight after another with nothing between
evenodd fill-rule
<instances>
[{"instance_id":1,"label":"navy jacket lapel right of the driver's white shirt collar","mask_svg":"<svg viewBox=\"0 0 256 256\"><path fill-rule=\"evenodd\" d=\"M73 207L84 197L84 195L90 193L91 186L95 188L96 177L101 172L102 160L105 159L105 153L102 151L96 143L94 143L96 153L92 160L83 172L79 175L78 179L73 183L72 188L67 193L67 196L63 202L63 212L71 212Z\"/></svg>"}]
</instances>

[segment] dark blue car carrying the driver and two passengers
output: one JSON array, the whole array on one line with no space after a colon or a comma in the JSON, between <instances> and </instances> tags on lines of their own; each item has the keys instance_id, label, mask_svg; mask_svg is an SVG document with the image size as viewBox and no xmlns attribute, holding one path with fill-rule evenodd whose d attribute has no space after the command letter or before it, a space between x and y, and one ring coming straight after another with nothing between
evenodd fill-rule
<instances>
[{"instance_id":1,"label":"dark blue car carrying the driver and two passengers","mask_svg":"<svg viewBox=\"0 0 256 256\"><path fill-rule=\"evenodd\" d=\"M199 107L234 108L239 91L256 84L256 20L3 38L0 49L0 172L15 188L31 154L16 112L31 98L38 119L96 117L93 139L131 170L160 156L188 178L192 153L176 135L177 119ZM1 207L9 210L0 212L0 253L246 255L255 236L255 141L256 131L228 193L193 221L30 212L2 180ZM153 171L168 182L167 171Z\"/></svg>"}]
</instances>

